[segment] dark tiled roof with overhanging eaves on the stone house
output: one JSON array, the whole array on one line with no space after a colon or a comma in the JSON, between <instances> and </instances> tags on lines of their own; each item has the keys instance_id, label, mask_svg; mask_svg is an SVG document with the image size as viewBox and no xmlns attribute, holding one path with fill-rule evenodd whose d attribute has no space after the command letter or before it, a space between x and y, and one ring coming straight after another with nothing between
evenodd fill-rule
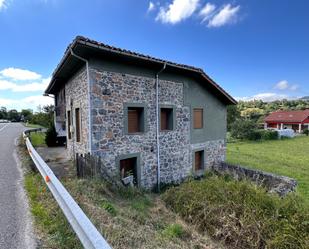
<instances>
[{"instance_id":1,"label":"dark tiled roof with overhanging eaves on the stone house","mask_svg":"<svg viewBox=\"0 0 309 249\"><path fill-rule=\"evenodd\" d=\"M101 54L105 57L113 57L125 60L126 62L135 63L137 65L149 65L158 71L166 64L166 70L177 73L191 74L192 76L201 78L208 87L224 101L226 104L236 104L237 101L223 90L214 80L212 80L201 68L179 64L171 61L158 59L149 55L136 53L130 50L121 49L107 44L91 40L83 36L77 36L73 42L67 47L64 56L57 65L52 74L52 79L45 90L46 94L54 94L66 79L73 74L73 71L82 65L81 60L72 55L72 51L78 56L88 59L91 56Z\"/></svg>"}]
</instances>

